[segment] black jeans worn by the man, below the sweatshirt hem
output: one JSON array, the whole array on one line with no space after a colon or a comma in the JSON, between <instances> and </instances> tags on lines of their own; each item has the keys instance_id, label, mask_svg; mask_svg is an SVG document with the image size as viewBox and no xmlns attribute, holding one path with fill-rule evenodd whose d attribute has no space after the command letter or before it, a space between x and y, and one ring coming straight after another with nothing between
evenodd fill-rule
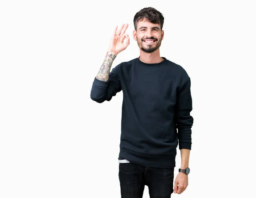
<instances>
[{"instance_id":1,"label":"black jeans worn by the man, below the sweatshirt hem","mask_svg":"<svg viewBox=\"0 0 256 198\"><path fill-rule=\"evenodd\" d=\"M132 163L119 163L121 198L142 198L145 185L150 198L170 198L174 168L152 168Z\"/></svg>"}]
</instances>

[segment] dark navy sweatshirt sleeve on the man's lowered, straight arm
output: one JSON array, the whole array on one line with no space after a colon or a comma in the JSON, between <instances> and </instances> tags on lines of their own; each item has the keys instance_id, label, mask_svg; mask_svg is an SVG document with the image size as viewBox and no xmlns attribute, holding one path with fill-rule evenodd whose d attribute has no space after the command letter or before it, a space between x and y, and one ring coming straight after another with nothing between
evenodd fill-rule
<instances>
[{"instance_id":1,"label":"dark navy sweatshirt sleeve on the man's lowered, straight arm","mask_svg":"<svg viewBox=\"0 0 256 198\"><path fill-rule=\"evenodd\" d=\"M190 86L189 78L177 92L176 127L178 129L179 149L191 149L192 145L191 128L194 120L190 115L192 111Z\"/></svg>"}]
</instances>

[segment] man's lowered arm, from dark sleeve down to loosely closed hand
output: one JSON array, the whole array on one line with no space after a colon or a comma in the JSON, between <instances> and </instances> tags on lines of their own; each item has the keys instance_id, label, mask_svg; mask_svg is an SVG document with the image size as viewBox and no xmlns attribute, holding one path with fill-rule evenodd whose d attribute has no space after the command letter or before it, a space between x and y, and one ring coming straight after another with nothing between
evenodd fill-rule
<instances>
[{"instance_id":1,"label":"man's lowered arm, from dark sleeve down to loosely closed hand","mask_svg":"<svg viewBox=\"0 0 256 198\"><path fill-rule=\"evenodd\" d=\"M193 117L190 115L192 111L192 97L190 91L190 78L177 92L177 108L176 108L176 126L178 129L179 149L181 156L180 169L189 167L189 155L192 145L192 125ZM188 175L179 172L175 179L174 193L181 194L188 186Z\"/></svg>"}]
</instances>

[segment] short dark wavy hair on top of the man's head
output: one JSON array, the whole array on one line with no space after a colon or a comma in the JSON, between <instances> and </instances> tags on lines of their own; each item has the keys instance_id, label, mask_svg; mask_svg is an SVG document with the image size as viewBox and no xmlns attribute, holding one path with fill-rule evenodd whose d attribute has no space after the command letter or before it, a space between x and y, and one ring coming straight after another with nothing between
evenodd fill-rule
<instances>
[{"instance_id":1,"label":"short dark wavy hair on top of the man's head","mask_svg":"<svg viewBox=\"0 0 256 198\"><path fill-rule=\"evenodd\" d=\"M135 30L137 30L138 21L143 20L144 18L151 23L160 24L161 30L163 29L163 20L164 20L163 14L152 7L148 7L148 8L141 9L135 14L134 16Z\"/></svg>"}]
</instances>

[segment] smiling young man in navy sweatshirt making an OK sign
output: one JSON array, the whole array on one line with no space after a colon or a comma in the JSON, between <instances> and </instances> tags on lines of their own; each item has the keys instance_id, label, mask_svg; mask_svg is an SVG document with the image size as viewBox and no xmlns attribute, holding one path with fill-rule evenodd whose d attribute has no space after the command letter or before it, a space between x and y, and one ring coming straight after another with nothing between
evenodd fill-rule
<instances>
[{"instance_id":1,"label":"smiling young man in navy sweatshirt making an OK sign","mask_svg":"<svg viewBox=\"0 0 256 198\"><path fill-rule=\"evenodd\" d=\"M140 56L111 70L115 57L130 43L128 24L114 29L105 60L96 75L91 99L110 101L123 91L119 152L122 198L170 198L188 186L193 118L190 77L182 66L160 56L163 15L149 7L134 16L133 38ZM127 39L124 42L125 38ZM174 181L176 148L181 166Z\"/></svg>"}]
</instances>

